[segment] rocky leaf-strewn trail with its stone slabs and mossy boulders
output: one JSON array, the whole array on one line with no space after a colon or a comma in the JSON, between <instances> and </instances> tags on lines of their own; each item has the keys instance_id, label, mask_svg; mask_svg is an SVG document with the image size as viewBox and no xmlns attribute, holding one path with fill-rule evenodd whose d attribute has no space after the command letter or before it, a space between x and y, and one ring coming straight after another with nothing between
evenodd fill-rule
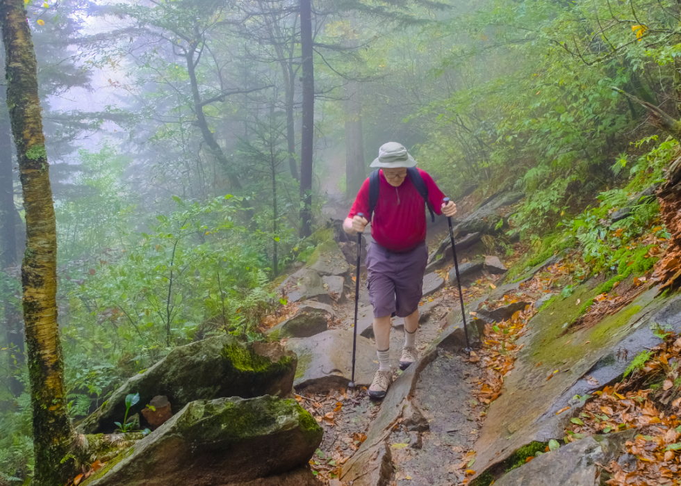
<instances>
[{"instance_id":1,"label":"rocky leaf-strewn trail with its stone slabs and mossy boulders","mask_svg":"<svg viewBox=\"0 0 681 486\"><path fill-rule=\"evenodd\" d=\"M304 264L278 282L286 305L263 321L261 330L270 342L217 337L176 348L81 422L84 433L113 432L113 419L126 410L126 396L137 392L140 405L131 412L141 414L140 426L149 426L163 410L142 412L140 407L168 403L167 422L155 423L156 430L110 460L109 469L90 473L87 482L174 484L163 467L154 465L173 460L191 471L177 473L182 484L197 485L678 484L673 483L680 477L674 451L681 448L675 448L681 430L668 432L678 425L673 409L681 403L676 399L678 350L664 355L657 329L664 327L664 339L679 334L681 298L656 298L657 290L645 279L628 278L618 291L631 297L617 300L601 291L598 277L586 280L573 250L509 272L507 266L525 247L512 243L513 256L500 258L486 245L486 236L497 231L517 200L511 193L484 201L468 208L455 227L473 353L463 351L451 249L448 238L440 241L436 226L420 302L418 362L397 371L404 324L393 319L395 380L381 403L368 399L366 387L378 365L362 267L357 387L348 389L357 249L340 222L329 220L311 236L314 250ZM584 315L601 302L617 307L588 324ZM641 395L635 387L626 396L614 395L613 385L634 357L650 349L663 349L657 353L663 353L664 366L641 369L666 373L660 375L671 383L664 385L666 402L650 398L646 405L653 394ZM639 397L635 416L654 410L656 418L632 419L626 404L612 405L613 410L598 405L607 417L598 415L593 400L604 394L615 400ZM249 414L260 416L252 422L236 419ZM601 423L610 424L607 431ZM658 430L646 435L641 427L650 424ZM660 441L665 439L673 441L672 449L664 450ZM657 472L646 469L646 457L632 453L636 447L658 451L664 474L657 463ZM241 466L225 459L232 453ZM627 468L647 471L645 477L657 482L627 483L635 476ZM149 471L161 479L151 481Z\"/></svg>"}]
</instances>

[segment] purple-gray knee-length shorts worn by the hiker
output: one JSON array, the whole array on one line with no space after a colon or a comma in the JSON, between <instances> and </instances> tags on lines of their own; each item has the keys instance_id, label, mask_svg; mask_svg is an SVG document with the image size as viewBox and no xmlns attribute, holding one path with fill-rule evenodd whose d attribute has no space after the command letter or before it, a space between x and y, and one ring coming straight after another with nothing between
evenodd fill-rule
<instances>
[{"instance_id":1,"label":"purple-gray knee-length shorts worn by the hiker","mask_svg":"<svg viewBox=\"0 0 681 486\"><path fill-rule=\"evenodd\" d=\"M366 255L366 268L374 317L407 317L418 309L427 261L425 242L408 253L393 253L371 243Z\"/></svg>"}]
</instances>

